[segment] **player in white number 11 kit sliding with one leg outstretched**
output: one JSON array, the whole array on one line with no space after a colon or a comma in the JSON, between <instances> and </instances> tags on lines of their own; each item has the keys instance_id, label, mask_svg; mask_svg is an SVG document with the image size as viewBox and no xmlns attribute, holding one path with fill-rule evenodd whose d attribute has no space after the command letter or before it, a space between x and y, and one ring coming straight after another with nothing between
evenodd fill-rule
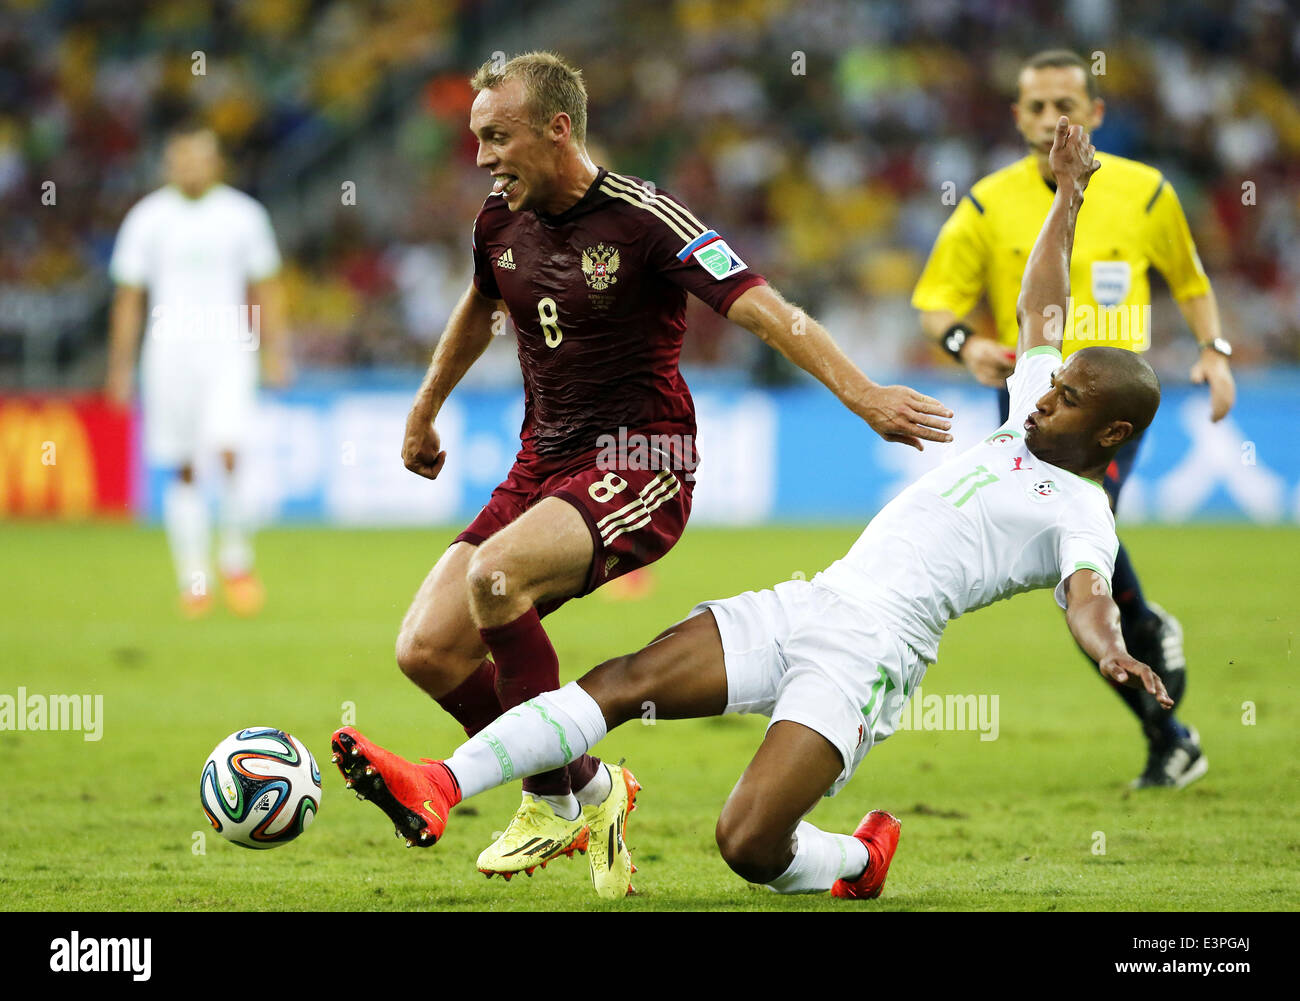
<instances>
[{"instance_id":1,"label":"player in white number 11 kit sliding with one leg outstretched","mask_svg":"<svg viewBox=\"0 0 1300 1001\"><path fill-rule=\"evenodd\" d=\"M517 706L445 760L407 762L352 727L337 731L347 784L408 841L428 844L463 798L572 760L646 705L660 719L762 712L772 722L718 820L723 858L781 893L875 897L898 820L874 810L848 836L803 816L894 732L950 619L1054 586L1101 673L1170 708L1160 679L1124 649L1109 592L1118 541L1101 489L1115 450L1154 416L1160 384L1131 351L1089 347L1062 365L1049 343L1060 341L1074 222L1096 170L1087 135L1066 118L1052 168L1058 188L1026 266L1001 428L904 490L811 581L705 602L640 653ZM618 842L623 828L592 837Z\"/></svg>"}]
</instances>

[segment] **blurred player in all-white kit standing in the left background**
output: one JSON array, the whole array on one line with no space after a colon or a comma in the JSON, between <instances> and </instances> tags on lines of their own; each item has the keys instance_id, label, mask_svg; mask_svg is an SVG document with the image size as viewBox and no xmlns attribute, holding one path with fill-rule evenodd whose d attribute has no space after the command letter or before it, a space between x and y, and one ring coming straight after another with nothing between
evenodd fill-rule
<instances>
[{"instance_id":1,"label":"blurred player in all-white kit standing in the left background","mask_svg":"<svg viewBox=\"0 0 1300 1001\"><path fill-rule=\"evenodd\" d=\"M221 155L207 129L181 129L165 148L168 183L138 202L122 222L109 272L117 285L109 330L107 393L131 398L140 358L144 448L176 471L162 521L176 564L181 610L212 604L211 516L195 463L220 452L222 482L217 564L231 611L263 604L254 572L239 451L252 416L257 359L268 382L289 374L277 272L280 251L266 209L221 183Z\"/></svg>"}]
</instances>

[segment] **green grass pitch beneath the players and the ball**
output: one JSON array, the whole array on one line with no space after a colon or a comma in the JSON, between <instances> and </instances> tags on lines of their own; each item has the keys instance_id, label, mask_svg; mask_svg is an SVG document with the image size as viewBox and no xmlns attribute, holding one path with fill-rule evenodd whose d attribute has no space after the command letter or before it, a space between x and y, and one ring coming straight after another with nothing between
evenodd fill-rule
<instances>
[{"instance_id":1,"label":"green grass pitch beneath the players and the ball","mask_svg":"<svg viewBox=\"0 0 1300 1001\"><path fill-rule=\"evenodd\" d=\"M855 533L692 528L655 568L649 597L597 594L547 620L563 676L638 647L699 599L811 576ZM1180 616L1188 636L1182 716L1200 729L1210 768L1182 792L1128 792L1144 759L1136 723L1089 673L1046 592L956 621L923 690L997 694L997 740L898 733L811 818L835 831L852 831L874 807L902 819L889 883L870 904L779 897L719 858L714 823L762 737L759 718L634 723L597 749L625 757L645 786L628 837L638 894L625 901L599 901L581 857L508 884L474 871L477 853L517 805L517 785L458 809L438 846L406 850L378 810L344 790L329 764L329 734L352 703L356 725L408 757L443 755L459 742L393 656L407 602L452 534L266 532L264 615L243 621L218 610L188 623L174 608L161 532L0 526L8 567L0 693L22 685L104 697L98 742L0 732L0 909L1279 910L1300 902L1295 529L1123 532L1147 593ZM315 826L273 852L228 844L199 807L207 754L256 724L303 738L324 771Z\"/></svg>"}]
</instances>

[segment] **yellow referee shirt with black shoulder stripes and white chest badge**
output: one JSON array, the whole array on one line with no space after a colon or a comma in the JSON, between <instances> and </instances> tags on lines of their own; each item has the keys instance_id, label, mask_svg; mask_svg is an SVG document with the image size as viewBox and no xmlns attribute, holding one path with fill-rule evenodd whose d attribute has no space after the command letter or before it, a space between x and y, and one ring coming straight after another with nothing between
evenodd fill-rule
<instances>
[{"instance_id":1,"label":"yellow referee shirt with black shoulder stripes and white chest badge","mask_svg":"<svg viewBox=\"0 0 1300 1001\"><path fill-rule=\"evenodd\" d=\"M1075 225L1062 356L1089 344L1150 347L1148 268L1179 302L1210 289L1170 183L1135 160L1100 152L1097 160ZM1015 347L1024 261L1052 198L1032 153L978 181L939 231L911 304L963 317L987 291L998 341Z\"/></svg>"}]
</instances>

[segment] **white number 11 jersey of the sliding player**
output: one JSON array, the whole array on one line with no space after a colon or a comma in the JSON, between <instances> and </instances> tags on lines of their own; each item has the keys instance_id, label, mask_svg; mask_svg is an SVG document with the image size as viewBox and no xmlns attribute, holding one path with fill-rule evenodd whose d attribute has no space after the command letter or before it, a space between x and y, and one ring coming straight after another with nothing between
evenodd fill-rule
<instances>
[{"instance_id":1,"label":"white number 11 jersey of the sliding player","mask_svg":"<svg viewBox=\"0 0 1300 1001\"><path fill-rule=\"evenodd\" d=\"M1082 568L1109 585L1119 540L1105 490L1024 445L1060 364L1054 347L1026 351L1006 424L898 494L814 582L883 616L927 663L963 612L1052 585L1063 608L1065 580Z\"/></svg>"}]
</instances>

